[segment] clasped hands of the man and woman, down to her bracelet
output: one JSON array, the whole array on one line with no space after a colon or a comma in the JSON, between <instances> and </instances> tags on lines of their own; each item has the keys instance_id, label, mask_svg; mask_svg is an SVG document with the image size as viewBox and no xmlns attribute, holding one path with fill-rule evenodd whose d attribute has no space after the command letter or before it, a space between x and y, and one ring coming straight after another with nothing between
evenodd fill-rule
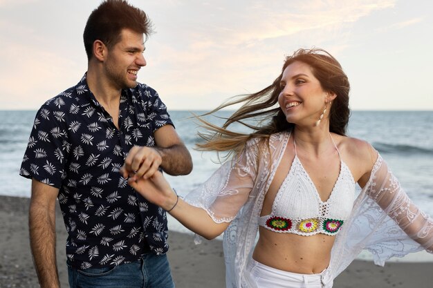
<instances>
[{"instance_id":1,"label":"clasped hands of the man and woman, down to her bracelet","mask_svg":"<svg viewBox=\"0 0 433 288\"><path fill-rule=\"evenodd\" d=\"M169 210L176 203L177 196L163 173L158 171L162 160L156 148L133 146L119 172L149 202Z\"/></svg>"}]
</instances>

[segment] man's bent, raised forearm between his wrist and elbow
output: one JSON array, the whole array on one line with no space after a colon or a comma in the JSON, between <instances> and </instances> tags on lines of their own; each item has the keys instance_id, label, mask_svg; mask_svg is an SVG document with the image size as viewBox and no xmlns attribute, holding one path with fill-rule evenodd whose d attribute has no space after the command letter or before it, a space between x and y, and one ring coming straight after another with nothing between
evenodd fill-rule
<instances>
[{"instance_id":1,"label":"man's bent, raised forearm between his wrist and elbow","mask_svg":"<svg viewBox=\"0 0 433 288\"><path fill-rule=\"evenodd\" d=\"M187 175L192 171L190 152L183 144L176 144L168 148L153 147L160 153L161 167L169 175Z\"/></svg>"}]
</instances>

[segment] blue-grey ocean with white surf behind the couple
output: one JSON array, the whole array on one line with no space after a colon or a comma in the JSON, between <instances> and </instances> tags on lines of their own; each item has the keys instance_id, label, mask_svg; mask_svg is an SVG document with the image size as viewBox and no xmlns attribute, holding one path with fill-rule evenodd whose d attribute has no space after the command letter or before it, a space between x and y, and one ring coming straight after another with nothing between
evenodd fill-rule
<instances>
[{"instance_id":1,"label":"blue-grey ocean with white surf behind the couple","mask_svg":"<svg viewBox=\"0 0 433 288\"><path fill-rule=\"evenodd\" d=\"M204 111L192 111L200 115ZM170 184L180 195L204 182L219 164L215 153L194 150L200 139L191 112L170 111L176 131L190 149L194 169L190 175L172 177ZM219 115L227 117L231 111ZM30 180L19 176L21 160L33 126L36 111L0 111L0 195L30 197ZM221 119L209 118L221 124ZM352 111L351 137L367 140L387 161L400 184L425 213L433 216L433 111ZM175 231L191 233L176 220L169 220Z\"/></svg>"}]
</instances>

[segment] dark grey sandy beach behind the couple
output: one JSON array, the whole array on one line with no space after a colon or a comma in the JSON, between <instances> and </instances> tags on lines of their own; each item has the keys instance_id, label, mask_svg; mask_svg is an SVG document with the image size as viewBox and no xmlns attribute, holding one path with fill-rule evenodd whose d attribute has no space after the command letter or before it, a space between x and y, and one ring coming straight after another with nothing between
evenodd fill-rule
<instances>
[{"instance_id":1,"label":"dark grey sandy beach behind the couple","mask_svg":"<svg viewBox=\"0 0 433 288\"><path fill-rule=\"evenodd\" d=\"M28 241L28 198L0 196L0 287L39 287ZM66 230L57 209L57 263L68 287ZM168 253L177 288L223 288L224 262L219 240L195 245L190 234L171 232ZM335 288L432 288L433 262L389 262L377 267L356 260L334 282Z\"/></svg>"}]
</instances>

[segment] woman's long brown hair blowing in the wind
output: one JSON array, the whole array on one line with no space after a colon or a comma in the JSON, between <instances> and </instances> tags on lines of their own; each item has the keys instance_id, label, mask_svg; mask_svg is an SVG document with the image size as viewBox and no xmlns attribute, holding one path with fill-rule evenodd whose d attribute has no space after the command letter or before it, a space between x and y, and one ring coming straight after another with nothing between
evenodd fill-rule
<instances>
[{"instance_id":1,"label":"woman's long brown hair blowing in the wind","mask_svg":"<svg viewBox=\"0 0 433 288\"><path fill-rule=\"evenodd\" d=\"M206 129L206 132L199 133L205 142L196 144L196 148L201 151L228 151L227 156L229 156L231 153L241 151L252 137L268 139L273 133L291 130L295 125L287 122L282 109L277 105L278 96L282 92L280 81L284 69L295 61L311 66L313 75L319 80L322 89L337 95L329 112L329 130L339 135L346 135L350 115L350 84L346 74L338 61L325 50L320 48L299 49L293 55L286 57L282 72L270 86L257 93L234 97L213 111L196 117L200 125ZM212 115L222 108L241 103L243 103L241 108L228 117L221 127L203 119L205 115ZM271 119L270 122L268 119ZM248 120L254 120L257 124L250 124L251 121L248 122ZM243 134L230 131L228 126L234 123L251 128L252 133Z\"/></svg>"}]
</instances>

